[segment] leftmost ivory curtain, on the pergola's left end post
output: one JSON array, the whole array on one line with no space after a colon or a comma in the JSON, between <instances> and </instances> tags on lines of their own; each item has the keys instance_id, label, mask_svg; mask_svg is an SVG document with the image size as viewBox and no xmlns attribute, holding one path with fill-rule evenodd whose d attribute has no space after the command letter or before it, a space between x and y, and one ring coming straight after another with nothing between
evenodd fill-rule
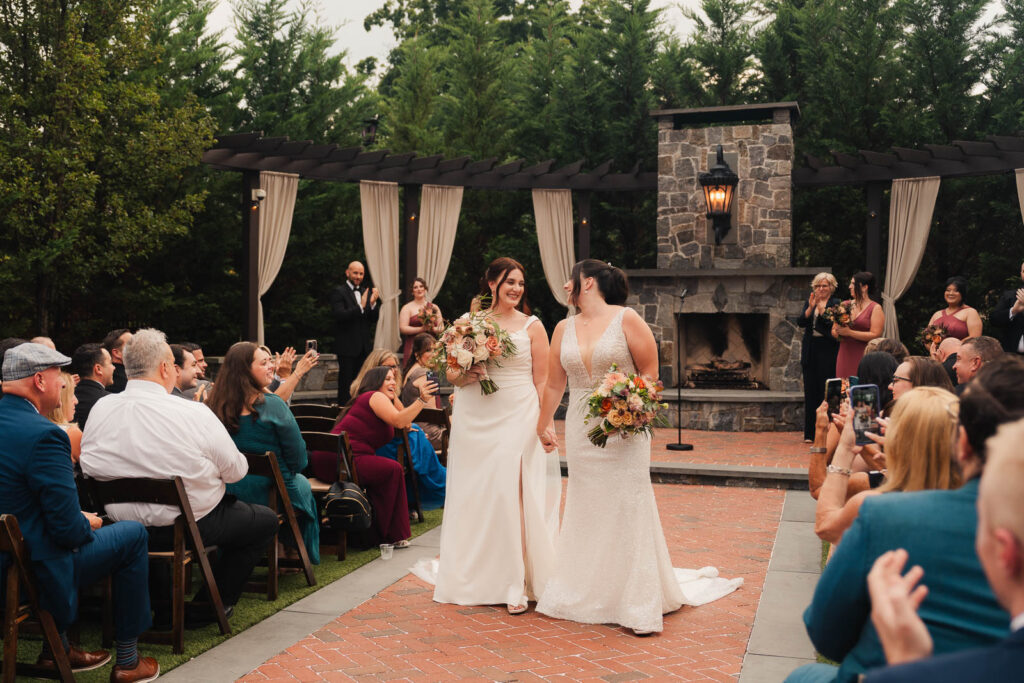
<instances>
[{"instance_id":1,"label":"leftmost ivory curtain, on the pergola's left end post","mask_svg":"<svg viewBox=\"0 0 1024 683\"><path fill-rule=\"evenodd\" d=\"M293 173L260 171L259 186L266 198L259 208L259 301L257 302L257 341L263 343L263 295L281 271L288 249L288 236L292 233L292 214L295 195L299 189L299 176Z\"/></svg>"}]
</instances>

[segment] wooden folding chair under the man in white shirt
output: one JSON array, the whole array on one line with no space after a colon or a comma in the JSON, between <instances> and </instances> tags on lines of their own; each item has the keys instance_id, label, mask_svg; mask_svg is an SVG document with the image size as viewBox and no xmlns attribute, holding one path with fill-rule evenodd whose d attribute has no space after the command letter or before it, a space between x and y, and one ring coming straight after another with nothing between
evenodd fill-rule
<instances>
[{"instance_id":1,"label":"wooden folding chair under the man in white shirt","mask_svg":"<svg viewBox=\"0 0 1024 683\"><path fill-rule=\"evenodd\" d=\"M180 513L174 520L172 550L150 553L151 560L171 564L171 631L170 633L147 631L139 636L139 640L170 644L175 654L184 652L185 593L187 590L185 569L194 561L199 562L203 581L206 582L207 590L210 593L210 602L217 616L217 624L220 626L220 632L222 634L230 633L231 627L224 614L224 603L220 599L220 591L217 589L217 582L213 578L213 569L210 566L209 553L213 548L207 548L203 544L181 477L176 476L173 479L111 479L110 481L90 479L89 481L95 492L96 500L103 506L116 503L151 503L176 507ZM186 540L190 548L185 547Z\"/></svg>"}]
</instances>

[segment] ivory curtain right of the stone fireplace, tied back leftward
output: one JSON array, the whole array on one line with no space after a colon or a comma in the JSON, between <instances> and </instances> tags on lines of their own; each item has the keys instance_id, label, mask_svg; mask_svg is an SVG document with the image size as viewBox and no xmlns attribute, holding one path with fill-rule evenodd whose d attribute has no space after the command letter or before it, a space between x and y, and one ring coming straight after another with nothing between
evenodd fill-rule
<instances>
[{"instance_id":1,"label":"ivory curtain right of the stone fireplace, tied back leftward","mask_svg":"<svg viewBox=\"0 0 1024 683\"><path fill-rule=\"evenodd\" d=\"M893 180L889 206L889 256L886 259L886 286L882 290L882 309L886 314L883 334L890 339L899 339L896 302L910 289L918 274L938 196L937 176Z\"/></svg>"}]
</instances>

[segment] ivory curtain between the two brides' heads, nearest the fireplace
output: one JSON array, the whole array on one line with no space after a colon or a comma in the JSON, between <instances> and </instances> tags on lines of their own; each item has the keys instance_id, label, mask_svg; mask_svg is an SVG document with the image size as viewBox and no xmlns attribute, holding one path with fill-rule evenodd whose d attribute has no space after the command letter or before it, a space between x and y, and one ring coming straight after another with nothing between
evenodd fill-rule
<instances>
[{"instance_id":1,"label":"ivory curtain between the two brides' heads, nearest the fireplace","mask_svg":"<svg viewBox=\"0 0 1024 683\"><path fill-rule=\"evenodd\" d=\"M568 306L562 287L572 273L572 193L568 189L535 189L534 215L537 242L541 248L544 278L558 303Z\"/></svg>"}]
</instances>

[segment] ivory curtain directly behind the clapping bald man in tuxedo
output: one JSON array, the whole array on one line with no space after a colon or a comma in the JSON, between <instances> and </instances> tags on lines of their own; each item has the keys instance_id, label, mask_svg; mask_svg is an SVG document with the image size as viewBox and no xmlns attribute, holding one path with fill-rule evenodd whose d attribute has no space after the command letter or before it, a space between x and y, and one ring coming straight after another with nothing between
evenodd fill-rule
<instances>
[{"instance_id":1,"label":"ivory curtain directly behind the clapping bald man in tuxedo","mask_svg":"<svg viewBox=\"0 0 1024 683\"><path fill-rule=\"evenodd\" d=\"M362 248L373 284L380 291L377 348L398 348L398 184L359 181Z\"/></svg>"}]
</instances>

